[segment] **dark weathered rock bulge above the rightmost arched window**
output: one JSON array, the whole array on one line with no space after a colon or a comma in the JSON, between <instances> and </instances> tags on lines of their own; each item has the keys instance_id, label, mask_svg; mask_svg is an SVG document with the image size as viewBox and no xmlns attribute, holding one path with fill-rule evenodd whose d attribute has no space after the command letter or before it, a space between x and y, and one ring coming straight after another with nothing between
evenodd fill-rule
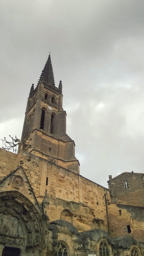
<instances>
[{"instance_id":1,"label":"dark weathered rock bulge above the rightmost arched window","mask_svg":"<svg viewBox=\"0 0 144 256\"><path fill-rule=\"evenodd\" d=\"M115 237L115 238L112 238L112 243L115 245L114 247L116 248L119 248L119 247L122 247L124 249L127 249L133 245L136 245L137 244L137 241L132 237L132 236L129 236L129 235L126 235L126 236L118 236L118 237Z\"/></svg>"}]
</instances>

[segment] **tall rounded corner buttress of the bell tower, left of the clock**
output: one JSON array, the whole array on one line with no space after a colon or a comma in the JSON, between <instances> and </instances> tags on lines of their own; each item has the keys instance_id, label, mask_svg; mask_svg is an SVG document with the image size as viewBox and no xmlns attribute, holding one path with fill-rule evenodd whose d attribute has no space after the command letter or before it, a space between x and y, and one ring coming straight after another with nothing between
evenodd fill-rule
<instances>
[{"instance_id":1,"label":"tall rounded corner buttress of the bell tower, left of the clock","mask_svg":"<svg viewBox=\"0 0 144 256\"><path fill-rule=\"evenodd\" d=\"M38 84L37 97L36 97L36 109L35 109L35 117L34 117L34 126L35 128L40 128L40 118L41 118L41 102L43 97L43 83Z\"/></svg>"}]
</instances>

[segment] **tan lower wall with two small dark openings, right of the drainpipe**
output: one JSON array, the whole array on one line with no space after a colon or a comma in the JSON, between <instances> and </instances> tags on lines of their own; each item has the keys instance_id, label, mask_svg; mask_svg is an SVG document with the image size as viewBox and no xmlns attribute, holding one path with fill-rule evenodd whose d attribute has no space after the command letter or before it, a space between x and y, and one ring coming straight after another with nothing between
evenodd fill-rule
<instances>
[{"instance_id":1,"label":"tan lower wall with two small dark openings, right of the drainpipe","mask_svg":"<svg viewBox=\"0 0 144 256\"><path fill-rule=\"evenodd\" d=\"M112 203L108 206L108 219L111 237L128 234L144 242L143 207Z\"/></svg>"}]
</instances>

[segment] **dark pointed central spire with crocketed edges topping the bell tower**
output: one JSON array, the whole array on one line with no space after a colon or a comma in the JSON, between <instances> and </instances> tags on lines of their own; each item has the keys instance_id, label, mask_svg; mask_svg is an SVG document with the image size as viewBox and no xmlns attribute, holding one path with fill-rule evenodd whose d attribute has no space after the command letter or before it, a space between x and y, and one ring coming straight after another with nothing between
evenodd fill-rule
<instances>
[{"instance_id":1,"label":"dark pointed central spire with crocketed edges topping the bell tower","mask_svg":"<svg viewBox=\"0 0 144 256\"><path fill-rule=\"evenodd\" d=\"M48 86L55 87L55 80L54 80L53 67L52 67L50 54L48 56L47 62L40 76L40 81L41 80L44 80L44 82L46 82Z\"/></svg>"}]
</instances>

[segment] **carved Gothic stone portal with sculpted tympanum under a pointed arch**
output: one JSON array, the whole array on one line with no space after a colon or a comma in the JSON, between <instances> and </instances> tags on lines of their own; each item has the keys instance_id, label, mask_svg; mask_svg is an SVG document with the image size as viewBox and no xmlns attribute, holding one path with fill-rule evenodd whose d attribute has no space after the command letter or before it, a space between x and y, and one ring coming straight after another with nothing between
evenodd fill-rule
<instances>
[{"instance_id":1,"label":"carved Gothic stone portal with sculpted tympanum under a pointed arch","mask_svg":"<svg viewBox=\"0 0 144 256\"><path fill-rule=\"evenodd\" d=\"M19 255L19 251L28 255L29 249L34 253L43 248L44 229L38 209L16 190L0 193L0 244L6 248L0 256ZM14 248L11 254L9 247Z\"/></svg>"}]
</instances>

